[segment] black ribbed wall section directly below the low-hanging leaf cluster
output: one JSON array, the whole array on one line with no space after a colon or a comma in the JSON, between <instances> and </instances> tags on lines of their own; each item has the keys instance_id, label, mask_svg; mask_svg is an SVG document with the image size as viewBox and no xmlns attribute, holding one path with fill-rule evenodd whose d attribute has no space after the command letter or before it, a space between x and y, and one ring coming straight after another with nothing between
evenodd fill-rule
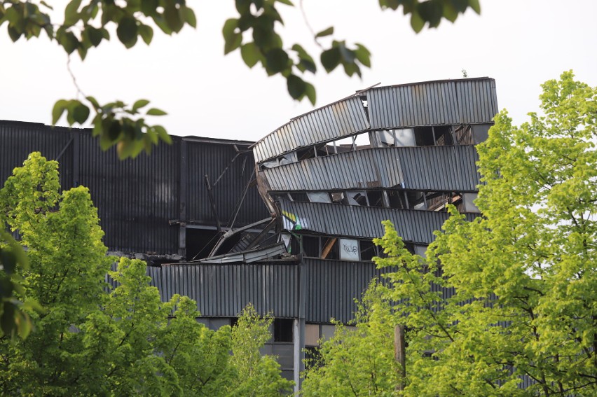
<instances>
[{"instance_id":1,"label":"black ribbed wall section directly below the low-hanging leaf cluster","mask_svg":"<svg viewBox=\"0 0 597 397\"><path fill-rule=\"evenodd\" d=\"M80 142L78 183L91 192L104 244L113 251L177 253L178 230L168 221L178 217L180 140L134 160L102 151L90 134Z\"/></svg>"}]
</instances>

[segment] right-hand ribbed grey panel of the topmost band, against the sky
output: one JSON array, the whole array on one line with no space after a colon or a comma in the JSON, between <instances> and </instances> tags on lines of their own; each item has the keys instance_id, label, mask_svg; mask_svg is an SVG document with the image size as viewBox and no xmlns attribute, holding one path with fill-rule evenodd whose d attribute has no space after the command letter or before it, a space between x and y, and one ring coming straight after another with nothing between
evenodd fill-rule
<instances>
[{"instance_id":1,"label":"right-hand ribbed grey panel of the topmost band, against the sky","mask_svg":"<svg viewBox=\"0 0 597 397\"><path fill-rule=\"evenodd\" d=\"M493 78L430 81L367 91L371 128L490 123L497 113Z\"/></svg>"}]
</instances>

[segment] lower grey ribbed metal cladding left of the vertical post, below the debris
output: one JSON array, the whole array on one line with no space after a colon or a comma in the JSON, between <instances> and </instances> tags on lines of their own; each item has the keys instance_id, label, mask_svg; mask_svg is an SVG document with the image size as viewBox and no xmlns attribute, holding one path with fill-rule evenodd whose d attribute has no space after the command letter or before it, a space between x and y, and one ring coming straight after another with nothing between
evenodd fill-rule
<instances>
[{"instance_id":1,"label":"lower grey ribbed metal cladding left of the vertical post, below the debris","mask_svg":"<svg viewBox=\"0 0 597 397\"><path fill-rule=\"evenodd\" d=\"M297 317L298 277L297 265L163 265L153 285L163 300L175 293L196 300L203 316L237 316L250 302L260 314Z\"/></svg>"}]
</instances>

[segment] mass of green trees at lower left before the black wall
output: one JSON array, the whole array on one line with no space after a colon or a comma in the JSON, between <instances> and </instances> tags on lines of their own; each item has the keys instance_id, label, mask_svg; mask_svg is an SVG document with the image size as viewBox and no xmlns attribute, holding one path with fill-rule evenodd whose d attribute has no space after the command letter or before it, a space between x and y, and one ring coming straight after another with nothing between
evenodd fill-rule
<instances>
[{"instance_id":1,"label":"mass of green trees at lower left before the black wall","mask_svg":"<svg viewBox=\"0 0 597 397\"><path fill-rule=\"evenodd\" d=\"M29 260L11 269L22 284L14 298L26 293L43 307L22 305L34 323L26 340L0 337L2 395L224 396L241 388L235 395L250 396L291 385L273 358L247 372L238 357L259 351L271 319L247 309L235 331L209 330L193 300L161 302L141 260L121 258L110 270L88 189L60 193L57 167L32 153L0 190L1 220L18 231Z\"/></svg>"}]
</instances>

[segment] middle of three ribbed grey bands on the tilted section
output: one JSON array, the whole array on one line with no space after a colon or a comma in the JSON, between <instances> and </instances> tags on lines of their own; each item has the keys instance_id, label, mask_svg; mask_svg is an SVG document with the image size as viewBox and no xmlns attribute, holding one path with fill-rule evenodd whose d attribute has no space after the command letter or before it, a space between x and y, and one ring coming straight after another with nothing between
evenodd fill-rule
<instances>
[{"instance_id":1,"label":"middle of three ribbed grey bands on the tilted section","mask_svg":"<svg viewBox=\"0 0 597 397\"><path fill-rule=\"evenodd\" d=\"M474 146L369 148L263 169L270 190L392 188L475 191Z\"/></svg>"}]
</instances>

